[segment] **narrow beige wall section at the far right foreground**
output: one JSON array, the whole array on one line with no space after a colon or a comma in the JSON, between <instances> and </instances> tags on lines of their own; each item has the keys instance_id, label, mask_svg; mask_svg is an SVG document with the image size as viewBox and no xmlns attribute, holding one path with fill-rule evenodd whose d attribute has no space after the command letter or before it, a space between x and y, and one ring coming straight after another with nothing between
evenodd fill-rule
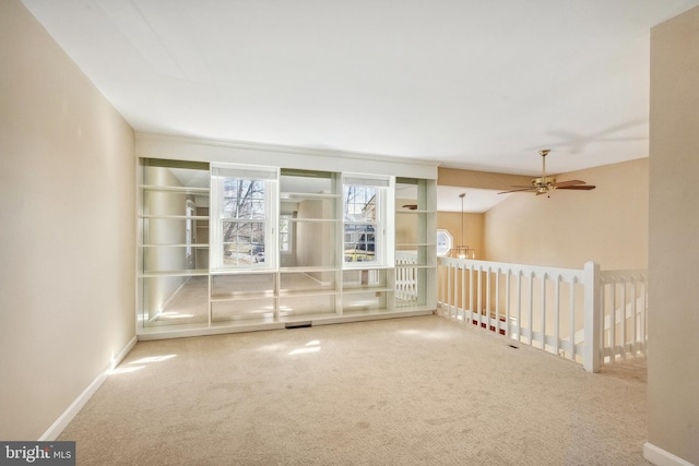
<instances>
[{"instance_id":1,"label":"narrow beige wall section at the far right foreground","mask_svg":"<svg viewBox=\"0 0 699 466\"><path fill-rule=\"evenodd\" d=\"M651 31L649 443L699 465L699 8Z\"/></svg>"}]
</instances>

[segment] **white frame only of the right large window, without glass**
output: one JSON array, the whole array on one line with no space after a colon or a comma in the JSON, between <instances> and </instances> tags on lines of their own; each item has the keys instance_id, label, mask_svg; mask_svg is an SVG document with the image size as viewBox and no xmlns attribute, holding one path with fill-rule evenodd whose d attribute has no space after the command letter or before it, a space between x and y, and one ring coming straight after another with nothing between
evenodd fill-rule
<instances>
[{"instance_id":1,"label":"white frame only of the right large window, without glass","mask_svg":"<svg viewBox=\"0 0 699 466\"><path fill-rule=\"evenodd\" d=\"M343 256L346 251L347 241L345 226L348 224L359 224L347 222L345 212L345 187L364 186L376 189L376 226L374 231L374 261L371 262L347 262L343 261L343 268L384 268L394 265L394 210L395 210L395 177L375 176L365 174L343 174L342 176L342 250Z\"/></svg>"}]
</instances>

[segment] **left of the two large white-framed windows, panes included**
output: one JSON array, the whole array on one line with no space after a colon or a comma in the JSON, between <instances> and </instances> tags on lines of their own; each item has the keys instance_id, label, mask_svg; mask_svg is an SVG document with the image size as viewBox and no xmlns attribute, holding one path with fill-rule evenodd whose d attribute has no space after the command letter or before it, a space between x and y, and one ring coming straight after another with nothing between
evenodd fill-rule
<instances>
[{"instance_id":1,"label":"left of the two large white-framed windows, panes included","mask_svg":"<svg viewBox=\"0 0 699 466\"><path fill-rule=\"evenodd\" d=\"M271 268L276 171L256 167L213 167L214 268Z\"/></svg>"}]
</instances>

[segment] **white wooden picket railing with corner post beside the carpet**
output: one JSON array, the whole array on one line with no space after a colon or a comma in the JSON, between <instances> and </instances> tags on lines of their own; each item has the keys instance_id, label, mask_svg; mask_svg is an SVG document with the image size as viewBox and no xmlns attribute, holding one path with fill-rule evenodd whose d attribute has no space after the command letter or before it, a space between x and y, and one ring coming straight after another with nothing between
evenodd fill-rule
<instances>
[{"instance_id":1,"label":"white wooden picket railing with corner post beside the carpet","mask_svg":"<svg viewBox=\"0 0 699 466\"><path fill-rule=\"evenodd\" d=\"M597 372L645 350L644 271L601 272L439 258L442 315L535 346Z\"/></svg>"}]
</instances>

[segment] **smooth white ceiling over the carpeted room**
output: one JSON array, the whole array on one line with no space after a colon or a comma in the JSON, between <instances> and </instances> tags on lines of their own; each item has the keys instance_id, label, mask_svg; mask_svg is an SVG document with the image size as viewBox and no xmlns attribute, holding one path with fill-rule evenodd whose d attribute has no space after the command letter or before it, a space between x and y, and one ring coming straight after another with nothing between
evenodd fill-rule
<instances>
[{"instance_id":1,"label":"smooth white ceiling over the carpeted room","mask_svg":"<svg viewBox=\"0 0 699 466\"><path fill-rule=\"evenodd\" d=\"M23 0L141 132L537 175L648 156L650 28L699 0Z\"/></svg>"}]
</instances>

